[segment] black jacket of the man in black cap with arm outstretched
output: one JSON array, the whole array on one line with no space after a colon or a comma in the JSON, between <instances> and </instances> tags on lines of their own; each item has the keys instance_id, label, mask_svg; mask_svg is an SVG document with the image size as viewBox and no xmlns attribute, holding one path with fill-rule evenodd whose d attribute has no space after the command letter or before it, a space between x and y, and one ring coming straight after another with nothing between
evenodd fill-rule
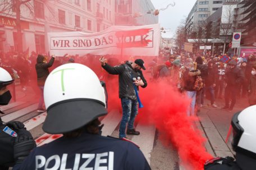
<instances>
[{"instance_id":1,"label":"black jacket of the man in black cap with arm outstretched","mask_svg":"<svg viewBox=\"0 0 256 170\"><path fill-rule=\"evenodd\" d=\"M106 65L102 65L102 67L109 73L109 74L118 74L118 82L119 82L119 98L130 98L131 100L136 100L136 93L133 85L132 78L140 77L141 80L144 82L144 86L142 88L147 87L147 81L143 76L141 70L135 72L134 69L131 67L130 62L126 62L125 64L118 65L117 67L111 67L106 63Z\"/></svg>"}]
</instances>

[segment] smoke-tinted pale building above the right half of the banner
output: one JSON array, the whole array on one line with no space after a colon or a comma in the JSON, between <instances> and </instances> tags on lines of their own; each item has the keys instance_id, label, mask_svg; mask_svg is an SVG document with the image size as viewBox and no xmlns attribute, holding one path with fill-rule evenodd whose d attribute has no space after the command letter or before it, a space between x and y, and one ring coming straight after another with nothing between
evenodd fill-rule
<instances>
[{"instance_id":1,"label":"smoke-tinted pale building above the right half of the banner","mask_svg":"<svg viewBox=\"0 0 256 170\"><path fill-rule=\"evenodd\" d=\"M158 23L150 0L115 0L115 25L138 26Z\"/></svg>"}]
</instances>

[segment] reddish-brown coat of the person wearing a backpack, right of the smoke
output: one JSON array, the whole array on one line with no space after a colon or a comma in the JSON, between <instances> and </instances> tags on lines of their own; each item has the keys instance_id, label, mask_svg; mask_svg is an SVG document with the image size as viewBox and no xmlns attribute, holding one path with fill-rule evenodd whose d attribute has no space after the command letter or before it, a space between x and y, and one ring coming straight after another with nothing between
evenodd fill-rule
<instances>
[{"instance_id":1,"label":"reddish-brown coat of the person wearing a backpack, right of the smoke","mask_svg":"<svg viewBox=\"0 0 256 170\"><path fill-rule=\"evenodd\" d=\"M185 89L185 91L195 91L194 84L196 81L196 75L200 74L200 70L185 70L182 77L182 87Z\"/></svg>"}]
</instances>

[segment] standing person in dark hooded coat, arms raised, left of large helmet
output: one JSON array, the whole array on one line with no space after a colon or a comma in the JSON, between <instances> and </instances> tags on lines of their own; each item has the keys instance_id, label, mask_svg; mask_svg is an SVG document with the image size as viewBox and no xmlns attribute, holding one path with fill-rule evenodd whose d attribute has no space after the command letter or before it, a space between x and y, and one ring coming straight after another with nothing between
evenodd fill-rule
<instances>
[{"instance_id":1,"label":"standing person in dark hooded coat, arms raised, left of large helmet","mask_svg":"<svg viewBox=\"0 0 256 170\"><path fill-rule=\"evenodd\" d=\"M38 112L44 112L45 109L43 108L44 103L44 83L46 78L49 75L49 67L52 67L54 62L55 56L52 55L52 58L47 63L47 58L41 54L38 54L38 57L36 58L36 64L35 64L35 70L37 75L37 82L38 87L40 89L40 98L38 103Z\"/></svg>"}]
</instances>

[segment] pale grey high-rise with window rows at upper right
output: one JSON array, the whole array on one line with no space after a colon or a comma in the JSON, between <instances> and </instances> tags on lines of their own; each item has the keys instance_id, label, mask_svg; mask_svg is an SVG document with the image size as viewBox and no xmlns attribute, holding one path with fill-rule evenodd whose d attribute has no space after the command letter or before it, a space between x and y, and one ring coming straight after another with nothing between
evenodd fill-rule
<instances>
[{"instance_id":1,"label":"pale grey high-rise with window rows at upper right","mask_svg":"<svg viewBox=\"0 0 256 170\"><path fill-rule=\"evenodd\" d=\"M219 0L197 0L186 20L187 25L196 29L204 21L222 7L223 1Z\"/></svg>"}]
</instances>

